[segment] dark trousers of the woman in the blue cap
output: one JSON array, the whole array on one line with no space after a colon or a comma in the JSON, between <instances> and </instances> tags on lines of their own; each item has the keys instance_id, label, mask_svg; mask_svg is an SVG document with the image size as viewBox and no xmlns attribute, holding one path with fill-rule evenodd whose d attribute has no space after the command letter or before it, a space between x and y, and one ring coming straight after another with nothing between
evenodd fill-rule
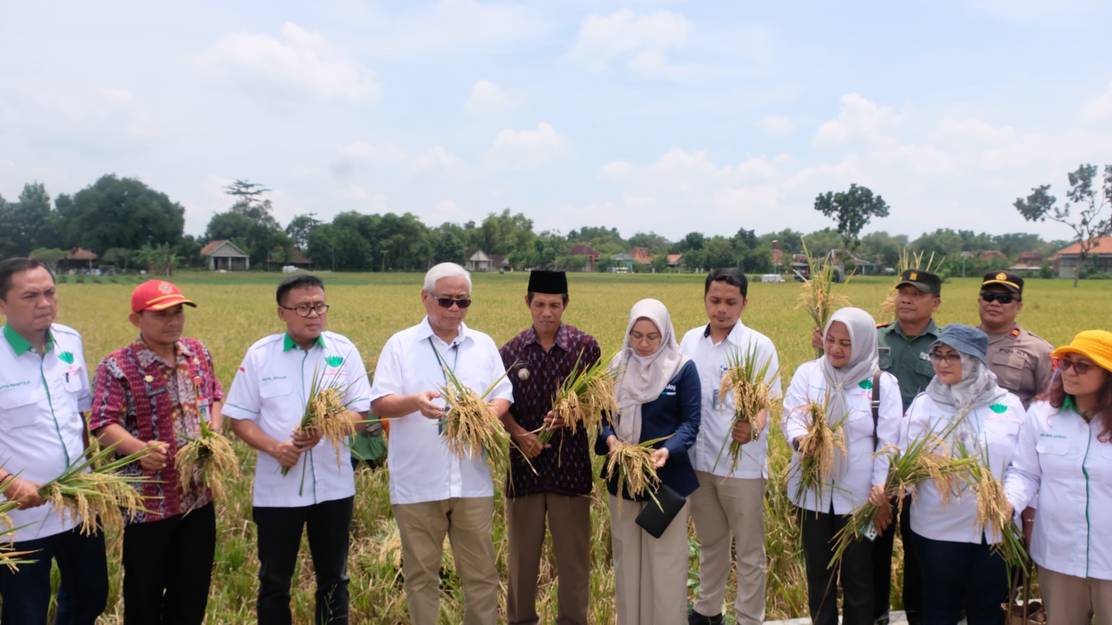
<instances>
[{"instance_id":1,"label":"dark trousers of the woman in the blue cap","mask_svg":"<svg viewBox=\"0 0 1112 625\"><path fill-rule=\"evenodd\" d=\"M981 544L934 540L915 534L923 568L923 623L951 625L965 611L969 625L1001 625L1007 601L1007 565L984 536Z\"/></svg>"}]
</instances>

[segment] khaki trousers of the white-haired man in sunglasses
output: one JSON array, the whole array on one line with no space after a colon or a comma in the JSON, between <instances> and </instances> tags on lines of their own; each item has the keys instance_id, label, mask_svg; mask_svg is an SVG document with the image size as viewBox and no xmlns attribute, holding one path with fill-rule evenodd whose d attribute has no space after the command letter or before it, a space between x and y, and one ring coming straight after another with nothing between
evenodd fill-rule
<instances>
[{"instance_id":1,"label":"khaki trousers of the white-haired man in sunglasses","mask_svg":"<svg viewBox=\"0 0 1112 625\"><path fill-rule=\"evenodd\" d=\"M451 542L456 573L464 585L465 625L497 623L498 571L490 534L494 497L395 504L394 517L401 534L401 569L410 623L436 625L445 535Z\"/></svg>"}]
</instances>

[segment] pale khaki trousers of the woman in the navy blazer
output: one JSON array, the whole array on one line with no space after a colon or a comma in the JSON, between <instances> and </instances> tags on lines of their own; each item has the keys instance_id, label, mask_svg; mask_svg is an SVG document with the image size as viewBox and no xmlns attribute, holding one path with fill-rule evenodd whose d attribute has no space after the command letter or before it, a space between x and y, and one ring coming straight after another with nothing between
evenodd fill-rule
<instances>
[{"instance_id":1,"label":"pale khaki trousers of the woman in the navy blazer","mask_svg":"<svg viewBox=\"0 0 1112 625\"><path fill-rule=\"evenodd\" d=\"M610 546L614 549L614 586L617 625L682 625L687 622L687 512L679 514L659 538L636 523L652 502L622 502L608 496Z\"/></svg>"}]
</instances>

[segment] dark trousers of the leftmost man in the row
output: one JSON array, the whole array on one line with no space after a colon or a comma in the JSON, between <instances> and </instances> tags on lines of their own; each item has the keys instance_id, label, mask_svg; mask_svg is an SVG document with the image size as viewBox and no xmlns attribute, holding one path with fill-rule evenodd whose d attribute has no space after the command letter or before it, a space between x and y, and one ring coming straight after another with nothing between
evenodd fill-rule
<instances>
[{"instance_id":1,"label":"dark trousers of the leftmost man in the row","mask_svg":"<svg viewBox=\"0 0 1112 625\"><path fill-rule=\"evenodd\" d=\"M105 534L97 529L82 536L78 528L12 544L17 552L36 560L13 572L0 566L0 623L47 625L50 609L50 562L58 562L58 613L54 625L92 625L108 603L108 558Z\"/></svg>"}]
</instances>

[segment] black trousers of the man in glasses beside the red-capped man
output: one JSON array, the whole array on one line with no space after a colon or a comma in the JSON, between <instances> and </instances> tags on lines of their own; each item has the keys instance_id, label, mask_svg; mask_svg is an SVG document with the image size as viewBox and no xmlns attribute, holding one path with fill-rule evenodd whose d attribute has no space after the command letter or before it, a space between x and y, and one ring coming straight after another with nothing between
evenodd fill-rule
<instances>
[{"instance_id":1,"label":"black trousers of the man in glasses beside the red-capped man","mask_svg":"<svg viewBox=\"0 0 1112 625\"><path fill-rule=\"evenodd\" d=\"M252 517L259 534L256 608L260 624L291 623L289 585L305 528L317 577L317 624L347 625L347 556L354 500L355 497L346 497L296 508L255 508Z\"/></svg>"}]
</instances>

